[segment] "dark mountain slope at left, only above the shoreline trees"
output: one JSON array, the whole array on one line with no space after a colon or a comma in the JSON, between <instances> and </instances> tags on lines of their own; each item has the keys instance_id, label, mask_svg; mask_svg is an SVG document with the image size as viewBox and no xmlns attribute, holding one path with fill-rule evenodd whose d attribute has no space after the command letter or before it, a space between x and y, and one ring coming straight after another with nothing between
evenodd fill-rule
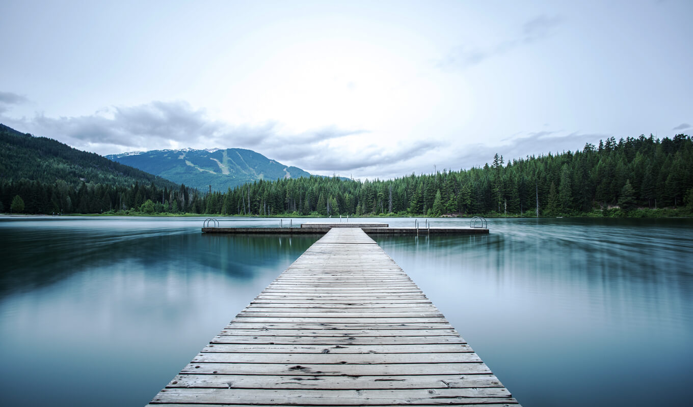
<instances>
[{"instance_id":1,"label":"dark mountain slope at left, only above the shoreline trees","mask_svg":"<svg viewBox=\"0 0 693 407\"><path fill-rule=\"evenodd\" d=\"M179 188L175 183L147 174L103 156L84 152L60 141L17 132L0 124L0 179L6 183L22 179L71 186L85 183L132 186L134 183L158 188Z\"/></svg>"}]
</instances>

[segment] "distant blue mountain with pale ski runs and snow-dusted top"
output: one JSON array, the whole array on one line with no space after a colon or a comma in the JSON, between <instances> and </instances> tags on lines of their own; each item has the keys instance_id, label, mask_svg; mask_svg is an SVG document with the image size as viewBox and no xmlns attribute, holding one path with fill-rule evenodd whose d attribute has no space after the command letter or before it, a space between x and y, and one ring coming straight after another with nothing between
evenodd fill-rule
<instances>
[{"instance_id":1,"label":"distant blue mountain with pale ski runs and snow-dusted top","mask_svg":"<svg viewBox=\"0 0 693 407\"><path fill-rule=\"evenodd\" d=\"M225 192L228 188L260 179L275 181L310 177L300 168L283 165L242 148L152 150L112 154L106 158L201 191L207 191L211 186L212 190Z\"/></svg>"}]
</instances>

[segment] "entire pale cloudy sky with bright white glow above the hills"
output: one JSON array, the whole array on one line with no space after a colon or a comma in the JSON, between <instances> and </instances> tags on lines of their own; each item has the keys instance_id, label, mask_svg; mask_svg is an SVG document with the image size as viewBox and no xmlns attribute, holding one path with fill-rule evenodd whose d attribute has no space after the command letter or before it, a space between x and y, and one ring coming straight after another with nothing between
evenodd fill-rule
<instances>
[{"instance_id":1,"label":"entire pale cloudy sky with bright white glow above the hills","mask_svg":"<svg viewBox=\"0 0 693 407\"><path fill-rule=\"evenodd\" d=\"M693 1L27 1L0 123L401 177L693 133Z\"/></svg>"}]
</instances>

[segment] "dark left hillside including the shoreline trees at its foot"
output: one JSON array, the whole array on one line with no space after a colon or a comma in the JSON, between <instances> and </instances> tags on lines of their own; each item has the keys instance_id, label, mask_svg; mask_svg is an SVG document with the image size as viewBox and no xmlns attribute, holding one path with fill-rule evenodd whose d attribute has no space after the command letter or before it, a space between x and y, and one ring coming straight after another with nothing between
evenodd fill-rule
<instances>
[{"instance_id":1,"label":"dark left hillside including the shoreline trees at its foot","mask_svg":"<svg viewBox=\"0 0 693 407\"><path fill-rule=\"evenodd\" d=\"M0 212L98 213L139 208L146 199L159 203L162 195L168 199L171 191L181 203L178 208L186 208L190 197L197 195L190 188L98 154L5 125L0 125L0 181Z\"/></svg>"}]
</instances>

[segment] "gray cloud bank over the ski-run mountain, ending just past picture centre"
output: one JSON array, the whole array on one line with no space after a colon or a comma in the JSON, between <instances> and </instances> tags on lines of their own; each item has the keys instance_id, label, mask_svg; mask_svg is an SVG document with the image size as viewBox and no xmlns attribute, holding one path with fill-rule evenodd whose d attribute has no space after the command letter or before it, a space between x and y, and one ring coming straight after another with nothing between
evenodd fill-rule
<instances>
[{"instance_id":1,"label":"gray cloud bank over the ski-run mountain, ending just past picture centre","mask_svg":"<svg viewBox=\"0 0 693 407\"><path fill-rule=\"evenodd\" d=\"M10 96L6 98L20 100ZM193 109L186 102L154 101L134 107L112 107L90 116L51 118L37 114L21 119L0 116L0 120L21 132L55 138L80 150L99 154L184 147L242 147L270 159L327 174L383 168L436 147L430 142L419 142L382 151L366 145L360 154L344 154L339 149L326 148L324 142L368 131L332 125L286 134L281 132L281 125L273 121L260 125L230 125L211 120L204 109Z\"/></svg>"}]
</instances>

